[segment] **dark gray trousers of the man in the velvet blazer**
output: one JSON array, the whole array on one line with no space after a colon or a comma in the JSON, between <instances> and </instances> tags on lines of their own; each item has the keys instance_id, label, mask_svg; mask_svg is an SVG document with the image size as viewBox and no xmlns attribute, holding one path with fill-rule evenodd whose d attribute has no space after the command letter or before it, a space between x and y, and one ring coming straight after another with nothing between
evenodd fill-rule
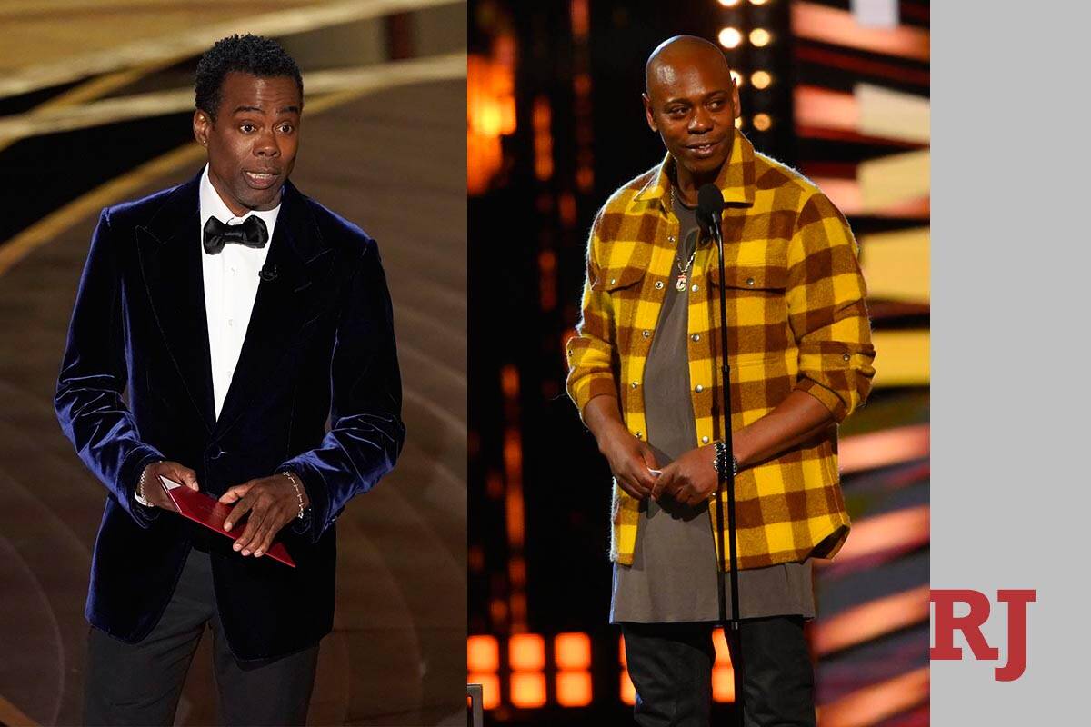
<instances>
[{"instance_id":1,"label":"dark gray trousers of the man in the velvet blazer","mask_svg":"<svg viewBox=\"0 0 1091 727\"><path fill-rule=\"evenodd\" d=\"M190 550L175 594L146 639L127 644L92 628L84 724L172 725L185 673L211 625L219 723L304 725L319 646L278 659L240 662L216 611L208 554Z\"/></svg>"}]
</instances>

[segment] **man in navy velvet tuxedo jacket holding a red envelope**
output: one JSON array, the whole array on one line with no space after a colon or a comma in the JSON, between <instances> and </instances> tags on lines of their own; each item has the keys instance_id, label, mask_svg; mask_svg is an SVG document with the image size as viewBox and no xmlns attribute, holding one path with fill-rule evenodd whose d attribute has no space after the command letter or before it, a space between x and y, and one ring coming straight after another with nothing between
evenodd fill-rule
<instances>
[{"instance_id":1,"label":"man in navy velvet tuxedo jacket holding a red envelope","mask_svg":"<svg viewBox=\"0 0 1091 727\"><path fill-rule=\"evenodd\" d=\"M300 722L316 644L333 622L335 520L401 448L400 378L379 251L287 181L302 82L285 58L253 36L227 38L206 53L194 129L208 147L212 187L202 192L208 182L197 174L105 209L91 243L56 398L65 435L107 488L86 607L94 627L88 723L170 724L185 652L192 656L205 621L217 641L221 718ZM202 73L212 101L202 99ZM215 392L214 316L202 272L215 258L204 257L209 243L206 232L202 244L199 217L208 189L238 218L278 210L233 375ZM247 549L164 511L170 500L157 474L238 501L232 519L249 514L240 524ZM297 568L255 557L274 536ZM183 611L183 596L205 610ZM176 627L185 633L166 632ZM149 643L161 649L153 653ZM292 662L300 654L301 665ZM181 669L163 664L178 658ZM111 691L125 679L145 693ZM169 689L148 695L165 681ZM133 699L147 701L147 711L117 711ZM232 713L225 701L244 708Z\"/></svg>"}]
</instances>

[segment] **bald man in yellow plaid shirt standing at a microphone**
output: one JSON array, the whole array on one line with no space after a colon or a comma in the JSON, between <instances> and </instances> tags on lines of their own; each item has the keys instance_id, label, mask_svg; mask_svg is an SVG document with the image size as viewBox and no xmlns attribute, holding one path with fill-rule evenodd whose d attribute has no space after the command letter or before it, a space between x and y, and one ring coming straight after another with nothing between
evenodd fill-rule
<instances>
[{"instance_id":1,"label":"bald man in yellow plaid shirt standing at a microphone","mask_svg":"<svg viewBox=\"0 0 1091 727\"><path fill-rule=\"evenodd\" d=\"M568 393L614 475L611 622L636 720L709 724L720 447L736 473L745 724L814 725L811 560L848 535L837 423L875 373L856 244L814 184L735 130L739 89L719 48L671 38L646 84L667 156L596 216L567 346ZM726 201L722 281L695 215L709 183ZM731 452L717 403L721 284Z\"/></svg>"}]
</instances>

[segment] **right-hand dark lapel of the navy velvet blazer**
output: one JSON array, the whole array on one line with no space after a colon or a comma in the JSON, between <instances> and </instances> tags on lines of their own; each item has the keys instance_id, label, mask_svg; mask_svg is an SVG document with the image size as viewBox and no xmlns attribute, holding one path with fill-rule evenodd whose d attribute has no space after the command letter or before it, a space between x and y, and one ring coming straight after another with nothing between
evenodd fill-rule
<instances>
[{"instance_id":1,"label":"right-hand dark lapel of the navy velvet blazer","mask_svg":"<svg viewBox=\"0 0 1091 727\"><path fill-rule=\"evenodd\" d=\"M334 257L333 250L323 245L305 198L290 182L285 184L269 245L265 269L275 269L276 276L257 286L239 363L214 428L216 436L227 432L255 397L275 385L284 354L309 319L314 283L328 271Z\"/></svg>"}]
</instances>

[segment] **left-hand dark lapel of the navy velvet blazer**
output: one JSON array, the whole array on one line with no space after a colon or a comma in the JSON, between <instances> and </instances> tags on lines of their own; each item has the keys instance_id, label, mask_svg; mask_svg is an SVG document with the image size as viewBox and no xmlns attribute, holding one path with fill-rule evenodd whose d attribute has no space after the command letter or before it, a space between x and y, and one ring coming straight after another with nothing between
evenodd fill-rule
<instances>
[{"instance_id":1,"label":"left-hand dark lapel of the navy velvet blazer","mask_svg":"<svg viewBox=\"0 0 1091 727\"><path fill-rule=\"evenodd\" d=\"M211 432L214 404L201 269L201 175L178 186L136 227L141 271L156 323L197 415Z\"/></svg>"}]
</instances>

